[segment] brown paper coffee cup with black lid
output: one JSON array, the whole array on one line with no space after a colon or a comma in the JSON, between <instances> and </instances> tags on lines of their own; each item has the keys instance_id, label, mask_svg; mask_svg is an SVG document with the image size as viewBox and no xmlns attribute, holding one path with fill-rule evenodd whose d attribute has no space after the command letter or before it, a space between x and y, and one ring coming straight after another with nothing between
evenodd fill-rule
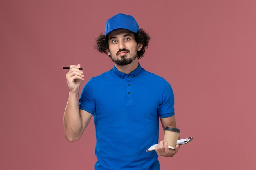
<instances>
[{"instance_id":1,"label":"brown paper coffee cup with black lid","mask_svg":"<svg viewBox=\"0 0 256 170\"><path fill-rule=\"evenodd\" d=\"M171 127L167 126L164 129L164 144L165 144L165 142L167 142L168 147L171 149L174 149L177 144L179 135L180 135L180 129L171 128Z\"/></svg>"}]
</instances>

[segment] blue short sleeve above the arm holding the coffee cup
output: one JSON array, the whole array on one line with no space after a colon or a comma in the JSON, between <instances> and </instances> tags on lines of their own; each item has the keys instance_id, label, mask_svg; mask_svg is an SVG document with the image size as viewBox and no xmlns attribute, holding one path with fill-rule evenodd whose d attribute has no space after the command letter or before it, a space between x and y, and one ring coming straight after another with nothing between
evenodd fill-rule
<instances>
[{"instance_id":1,"label":"blue short sleeve above the arm holding the coffee cup","mask_svg":"<svg viewBox=\"0 0 256 170\"><path fill-rule=\"evenodd\" d=\"M171 85L164 80L164 88L162 93L162 102L158 108L160 117L171 117L174 115L174 95Z\"/></svg>"}]
</instances>

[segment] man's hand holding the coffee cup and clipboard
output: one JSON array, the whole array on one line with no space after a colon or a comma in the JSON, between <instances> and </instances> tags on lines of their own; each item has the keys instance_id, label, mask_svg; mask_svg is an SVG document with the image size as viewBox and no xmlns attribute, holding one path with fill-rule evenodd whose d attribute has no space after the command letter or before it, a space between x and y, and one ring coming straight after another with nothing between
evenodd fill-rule
<instances>
[{"instance_id":1,"label":"man's hand holding the coffee cup and clipboard","mask_svg":"<svg viewBox=\"0 0 256 170\"><path fill-rule=\"evenodd\" d=\"M164 157L173 157L175 153L177 153L180 150L180 146L176 144L175 149L168 148L168 143L164 141L160 141L160 143L155 147L155 152L157 152L157 155L164 156Z\"/></svg>"}]
</instances>

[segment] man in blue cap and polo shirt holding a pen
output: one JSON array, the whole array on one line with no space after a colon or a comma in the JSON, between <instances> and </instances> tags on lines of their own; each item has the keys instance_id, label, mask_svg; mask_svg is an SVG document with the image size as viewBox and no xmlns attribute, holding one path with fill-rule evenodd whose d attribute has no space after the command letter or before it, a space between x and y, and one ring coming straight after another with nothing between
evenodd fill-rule
<instances>
[{"instance_id":1,"label":"man in blue cap and polo shirt holding a pen","mask_svg":"<svg viewBox=\"0 0 256 170\"><path fill-rule=\"evenodd\" d=\"M179 150L158 143L158 120L162 127L176 127L174 97L170 84L141 68L138 60L150 37L129 15L117 14L106 23L105 35L95 48L109 55L115 66L90 79L79 99L83 79L80 65L66 75L70 88L64 113L65 137L79 139L92 115L96 129L96 170L159 170L158 155L172 157ZM78 102L79 99L79 102Z\"/></svg>"}]
</instances>

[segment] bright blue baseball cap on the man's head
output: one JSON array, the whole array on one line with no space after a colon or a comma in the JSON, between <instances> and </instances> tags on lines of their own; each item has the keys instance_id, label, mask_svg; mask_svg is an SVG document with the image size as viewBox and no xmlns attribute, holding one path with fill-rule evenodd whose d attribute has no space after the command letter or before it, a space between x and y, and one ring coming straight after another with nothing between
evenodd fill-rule
<instances>
[{"instance_id":1,"label":"bright blue baseball cap on the man's head","mask_svg":"<svg viewBox=\"0 0 256 170\"><path fill-rule=\"evenodd\" d=\"M139 31L139 25L133 16L119 13L107 20L105 36L117 29L128 29L134 33Z\"/></svg>"}]
</instances>

